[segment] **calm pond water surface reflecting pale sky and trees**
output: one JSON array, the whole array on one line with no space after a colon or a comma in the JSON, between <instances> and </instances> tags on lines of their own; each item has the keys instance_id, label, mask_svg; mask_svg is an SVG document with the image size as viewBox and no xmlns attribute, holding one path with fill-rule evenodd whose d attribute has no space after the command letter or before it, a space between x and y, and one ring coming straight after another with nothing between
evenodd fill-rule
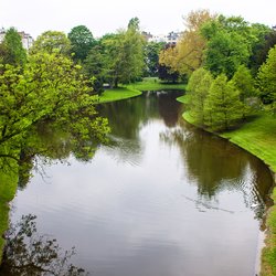
<instances>
[{"instance_id":1,"label":"calm pond water surface reflecting pale sky and trees","mask_svg":"<svg viewBox=\"0 0 276 276\"><path fill-rule=\"evenodd\" d=\"M267 168L181 119L177 93L100 106L112 146L88 162L44 166L19 191L11 220L95 276L252 276L272 185Z\"/></svg>"}]
</instances>

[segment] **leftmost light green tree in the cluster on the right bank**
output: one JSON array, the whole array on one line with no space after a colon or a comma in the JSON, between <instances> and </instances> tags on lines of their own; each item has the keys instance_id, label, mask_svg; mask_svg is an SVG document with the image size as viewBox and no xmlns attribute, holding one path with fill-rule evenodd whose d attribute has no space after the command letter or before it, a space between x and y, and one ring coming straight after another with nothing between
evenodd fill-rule
<instances>
[{"instance_id":1,"label":"leftmost light green tree in the cluster on the right bank","mask_svg":"<svg viewBox=\"0 0 276 276\"><path fill-rule=\"evenodd\" d=\"M205 121L205 99L213 77L211 73L203 67L195 70L188 83L187 91L189 95L188 108L195 124L204 125Z\"/></svg>"}]
</instances>

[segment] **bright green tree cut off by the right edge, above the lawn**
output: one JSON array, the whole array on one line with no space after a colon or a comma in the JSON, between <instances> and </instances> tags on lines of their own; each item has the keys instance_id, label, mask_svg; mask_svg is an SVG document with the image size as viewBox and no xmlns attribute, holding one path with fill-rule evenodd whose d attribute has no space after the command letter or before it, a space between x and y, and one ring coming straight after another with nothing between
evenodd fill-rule
<instances>
[{"instance_id":1,"label":"bright green tree cut off by the right edge, above the lawn","mask_svg":"<svg viewBox=\"0 0 276 276\"><path fill-rule=\"evenodd\" d=\"M276 112L276 45L269 50L266 62L261 66L257 74L257 83L261 98L264 104L270 104L272 110Z\"/></svg>"}]
</instances>

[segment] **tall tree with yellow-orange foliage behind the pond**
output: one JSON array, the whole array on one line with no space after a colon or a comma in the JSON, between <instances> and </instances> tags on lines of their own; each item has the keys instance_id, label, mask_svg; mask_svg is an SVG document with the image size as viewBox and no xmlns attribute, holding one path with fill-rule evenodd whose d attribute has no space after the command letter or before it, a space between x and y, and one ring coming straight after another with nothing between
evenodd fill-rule
<instances>
[{"instance_id":1,"label":"tall tree with yellow-orange foliage behind the pond","mask_svg":"<svg viewBox=\"0 0 276 276\"><path fill-rule=\"evenodd\" d=\"M176 47L168 47L160 53L159 62L178 71L182 75L191 75L203 62L205 39L201 35L201 25L209 22L215 15L208 10L192 11L185 20L187 30L182 33Z\"/></svg>"}]
</instances>

